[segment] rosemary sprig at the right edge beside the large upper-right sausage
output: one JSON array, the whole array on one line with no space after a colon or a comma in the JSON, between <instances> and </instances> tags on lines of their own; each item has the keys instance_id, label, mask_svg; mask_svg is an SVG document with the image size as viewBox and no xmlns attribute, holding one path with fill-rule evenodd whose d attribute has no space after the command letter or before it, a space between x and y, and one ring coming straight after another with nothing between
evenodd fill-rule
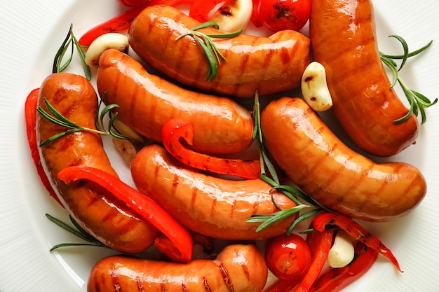
<instances>
[{"instance_id":1,"label":"rosemary sprig at the right edge beside the large upper-right sausage","mask_svg":"<svg viewBox=\"0 0 439 292\"><path fill-rule=\"evenodd\" d=\"M415 116L418 116L418 114L421 113L421 124L424 124L426 122L425 109L430 106L433 106L433 104L436 104L438 102L438 99L436 98L433 100L433 102L431 102L431 100L428 99L428 97L426 97L425 95L422 95L417 91L411 90L400 77L399 71L403 69L408 58L414 57L424 52L424 50L426 50L429 46L431 46L431 43L433 43L433 41L429 41L426 44L426 46L423 46L418 50L414 50L410 52L407 42L401 36L392 35L389 37L393 37L401 43L401 46L403 46L403 55L386 55L380 52L381 61L391 71L392 74L391 88L393 88L396 85L396 83L399 83L399 85L403 89L405 97L407 97L407 100L409 101L410 104L410 109L409 111L407 111L405 116L394 120L394 123L403 123L405 120L410 118L412 113L414 113ZM394 60L402 60L399 68L398 68L398 64L396 64Z\"/></svg>"}]
</instances>

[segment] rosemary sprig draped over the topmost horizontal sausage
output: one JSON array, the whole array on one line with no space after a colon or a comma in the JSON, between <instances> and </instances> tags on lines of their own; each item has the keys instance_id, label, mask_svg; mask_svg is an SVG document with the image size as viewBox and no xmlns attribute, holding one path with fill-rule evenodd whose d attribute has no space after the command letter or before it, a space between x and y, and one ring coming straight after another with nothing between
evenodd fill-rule
<instances>
[{"instance_id":1,"label":"rosemary sprig draped over the topmost horizontal sausage","mask_svg":"<svg viewBox=\"0 0 439 292\"><path fill-rule=\"evenodd\" d=\"M198 32L198 29L203 29L206 27L214 27L215 29L218 29L218 24L213 20L204 22L201 25L197 25L193 29L189 30L189 32L177 36L175 41L181 39L183 36L192 36L195 39L198 45L201 46L201 48L203 49L205 56L208 58L208 62L209 62L209 71L205 80L212 82L217 77L218 66L221 64L221 60L226 61L226 58L222 55L221 52L219 52L214 41L212 41L212 38L213 39L233 38L241 34L241 32L243 32L243 29L241 27L241 29L238 29L236 32L229 32L224 34L204 34L203 32Z\"/></svg>"}]
</instances>

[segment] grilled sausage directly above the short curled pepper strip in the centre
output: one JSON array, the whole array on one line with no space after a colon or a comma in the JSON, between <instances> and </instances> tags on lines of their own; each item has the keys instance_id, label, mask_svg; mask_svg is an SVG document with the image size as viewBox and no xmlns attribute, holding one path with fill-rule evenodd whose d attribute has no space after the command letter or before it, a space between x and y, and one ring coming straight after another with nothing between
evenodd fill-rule
<instances>
[{"instance_id":1,"label":"grilled sausage directly above the short curled pepper strip in the centre","mask_svg":"<svg viewBox=\"0 0 439 292\"><path fill-rule=\"evenodd\" d=\"M194 125L191 148L197 152L236 153L252 144L253 120L243 106L180 88L118 50L101 55L97 90L106 104L119 104L123 123L153 141L160 142L163 124L177 118Z\"/></svg>"}]
</instances>

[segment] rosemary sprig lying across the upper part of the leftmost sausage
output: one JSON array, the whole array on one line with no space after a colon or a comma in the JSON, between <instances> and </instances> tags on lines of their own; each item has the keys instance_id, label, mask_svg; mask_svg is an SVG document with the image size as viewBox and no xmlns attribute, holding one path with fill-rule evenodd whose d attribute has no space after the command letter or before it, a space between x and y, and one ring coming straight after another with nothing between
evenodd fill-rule
<instances>
[{"instance_id":1,"label":"rosemary sprig lying across the upper part of the leftmost sausage","mask_svg":"<svg viewBox=\"0 0 439 292\"><path fill-rule=\"evenodd\" d=\"M50 121L51 123L54 123L55 125L66 127L67 130L55 134L52 137L49 137L39 145L40 147L46 146L50 142L60 137L63 137L67 134L72 134L74 132L81 132L81 131L93 132L105 136L111 135L112 137L116 137L118 139L128 139L127 137L121 135L114 127L114 122L116 121L117 113L112 114L111 110L119 108L117 104L109 104L108 106L105 106L100 113L98 111L95 119L96 129L92 129L90 127L82 127L72 122L72 120L67 119L65 116L62 116L62 113L60 113L57 109L55 109L45 97L43 98L43 102L44 104L46 104L48 111L44 110L41 106L38 106L36 108L36 111L38 111L41 114L41 116L43 116L43 118L46 118L46 120ZM100 101L98 108L100 108L101 104L102 104L102 99ZM107 128L105 128L104 118L107 115L109 116L109 122L107 124ZM98 130L98 129L102 129L102 130Z\"/></svg>"}]
</instances>

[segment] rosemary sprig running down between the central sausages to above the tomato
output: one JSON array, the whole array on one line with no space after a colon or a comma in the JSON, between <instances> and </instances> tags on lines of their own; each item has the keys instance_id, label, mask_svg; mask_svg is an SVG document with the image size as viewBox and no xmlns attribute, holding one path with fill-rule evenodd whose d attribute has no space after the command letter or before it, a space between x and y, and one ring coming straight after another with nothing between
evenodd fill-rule
<instances>
[{"instance_id":1,"label":"rosemary sprig running down between the central sausages to above the tomato","mask_svg":"<svg viewBox=\"0 0 439 292\"><path fill-rule=\"evenodd\" d=\"M256 232L259 232L260 230L263 230L264 228L267 228L278 221L281 221L285 218L295 215L304 209L311 209L310 211L306 211L305 213L299 215L294 221L292 221L290 227L286 232L286 235L288 236L296 228L298 223L318 214L318 212L322 211L323 208L319 206L318 202L316 202L311 197L303 193L302 190L299 190L298 188L295 188L293 186L281 185L281 183L279 182L278 175L276 174L276 169L269 159L270 158L269 151L266 149L262 141L262 130L260 124L260 120L261 120L260 106L259 106L259 97L257 92L255 94L255 104L253 106L253 119L255 120L255 130L253 132L253 139L257 139L257 142L259 144L259 155L260 155L260 161L262 162L260 178L272 187L271 190L278 190L283 195L287 196L290 200L295 202L297 206L289 209L281 209L281 207L279 207L276 204L276 201L272 199L273 204L275 204L275 206L279 209L279 211L276 211L273 214L269 214L269 215L255 214L251 218L248 218L246 222L261 223L256 228ZM266 175L265 168L268 170L271 178ZM304 200L309 204L303 204L297 197L299 197L300 199Z\"/></svg>"}]
</instances>

